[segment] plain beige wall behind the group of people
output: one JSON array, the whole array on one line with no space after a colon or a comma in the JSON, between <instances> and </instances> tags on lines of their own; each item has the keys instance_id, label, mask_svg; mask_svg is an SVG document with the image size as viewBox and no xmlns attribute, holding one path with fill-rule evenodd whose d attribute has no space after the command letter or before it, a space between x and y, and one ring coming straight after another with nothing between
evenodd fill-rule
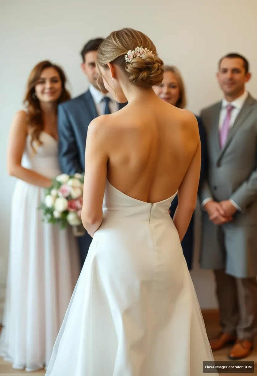
<instances>
[{"instance_id":1,"label":"plain beige wall behind the group of people","mask_svg":"<svg viewBox=\"0 0 257 376\"><path fill-rule=\"evenodd\" d=\"M61 64L77 96L88 85L79 67L83 44L113 29L134 27L153 39L166 64L180 68L188 108L198 113L221 98L215 71L218 59L227 52L240 52L249 59L254 76L248 88L257 96L256 14L256 0L0 0L0 305L15 183L6 174L6 142L33 65L42 59ZM199 270L197 253L192 278L201 307L215 307L212 273Z\"/></svg>"}]
</instances>

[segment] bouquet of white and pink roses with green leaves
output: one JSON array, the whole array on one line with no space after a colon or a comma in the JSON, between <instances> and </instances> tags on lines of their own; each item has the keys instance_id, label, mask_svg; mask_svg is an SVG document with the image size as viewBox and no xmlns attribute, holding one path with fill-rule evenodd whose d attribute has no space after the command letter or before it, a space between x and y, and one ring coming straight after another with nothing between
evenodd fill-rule
<instances>
[{"instance_id":1,"label":"bouquet of white and pink roses with green leaves","mask_svg":"<svg viewBox=\"0 0 257 376\"><path fill-rule=\"evenodd\" d=\"M46 190L45 199L40 206L43 221L57 223L61 229L70 225L75 236L83 236L85 234L81 221L83 182L82 174L56 176L51 187Z\"/></svg>"}]
</instances>

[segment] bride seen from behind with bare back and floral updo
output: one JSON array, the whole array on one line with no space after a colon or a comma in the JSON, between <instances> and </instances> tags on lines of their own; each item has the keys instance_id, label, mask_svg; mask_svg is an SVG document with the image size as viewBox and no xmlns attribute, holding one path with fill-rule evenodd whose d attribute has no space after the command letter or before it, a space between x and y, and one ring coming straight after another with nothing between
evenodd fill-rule
<instances>
[{"instance_id":1,"label":"bride seen from behind with bare back and floral updo","mask_svg":"<svg viewBox=\"0 0 257 376\"><path fill-rule=\"evenodd\" d=\"M46 376L199 376L213 357L180 244L197 200L197 120L154 93L163 61L143 33L111 33L97 67L129 104L88 129L82 218L93 240Z\"/></svg>"}]
</instances>

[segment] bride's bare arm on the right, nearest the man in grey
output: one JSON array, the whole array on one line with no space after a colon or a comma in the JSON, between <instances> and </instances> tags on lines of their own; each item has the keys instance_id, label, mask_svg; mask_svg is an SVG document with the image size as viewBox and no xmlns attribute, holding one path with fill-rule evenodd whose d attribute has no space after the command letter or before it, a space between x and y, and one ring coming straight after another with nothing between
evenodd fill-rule
<instances>
[{"instance_id":1,"label":"bride's bare arm on the right, nearest the man in grey","mask_svg":"<svg viewBox=\"0 0 257 376\"><path fill-rule=\"evenodd\" d=\"M191 121L191 127L195 129L195 137L197 138L197 147L186 174L178 188L178 205L175 211L173 222L177 228L180 241L189 226L190 220L194 213L197 203L197 191L201 170L201 141L198 131L197 122Z\"/></svg>"}]
</instances>

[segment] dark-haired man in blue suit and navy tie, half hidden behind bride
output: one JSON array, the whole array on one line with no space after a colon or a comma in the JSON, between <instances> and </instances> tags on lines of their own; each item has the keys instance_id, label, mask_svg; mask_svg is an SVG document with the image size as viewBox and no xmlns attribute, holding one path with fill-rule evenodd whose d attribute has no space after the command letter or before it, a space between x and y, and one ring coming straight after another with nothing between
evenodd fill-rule
<instances>
[{"instance_id":1,"label":"dark-haired man in blue suit and navy tie, half hidden behind bride","mask_svg":"<svg viewBox=\"0 0 257 376\"><path fill-rule=\"evenodd\" d=\"M82 72L88 77L89 89L79 97L58 106L59 160L63 173L83 173L85 170L85 146L88 126L99 115L111 114L124 107L116 104L103 87L97 85L97 50L103 38L92 39L81 51ZM85 176L86 179L86 176ZM81 268L92 238L86 232L78 238Z\"/></svg>"}]
</instances>

